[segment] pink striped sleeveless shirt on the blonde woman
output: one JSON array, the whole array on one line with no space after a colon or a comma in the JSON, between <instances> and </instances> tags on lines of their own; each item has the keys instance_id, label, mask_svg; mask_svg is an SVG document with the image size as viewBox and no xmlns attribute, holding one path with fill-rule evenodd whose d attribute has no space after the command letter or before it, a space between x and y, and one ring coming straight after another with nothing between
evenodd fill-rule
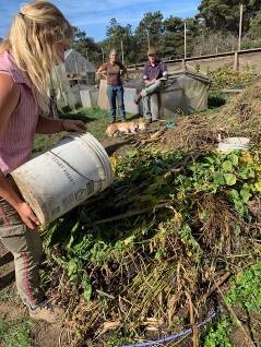
<instances>
[{"instance_id":1,"label":"pink striped sleeveless shirt on the blonde woman","mask_svg":"<svg viewBox=\"0 0 261 347\"><path fill-rule=\"evenodd\" d=\"M0 73L8 73L21 86L20 101L0 137L0 169L7 176L29 159L38 122L38 106L31 81L19 69L10 52L0 55Z\"/></svg>"}]
</instances>

